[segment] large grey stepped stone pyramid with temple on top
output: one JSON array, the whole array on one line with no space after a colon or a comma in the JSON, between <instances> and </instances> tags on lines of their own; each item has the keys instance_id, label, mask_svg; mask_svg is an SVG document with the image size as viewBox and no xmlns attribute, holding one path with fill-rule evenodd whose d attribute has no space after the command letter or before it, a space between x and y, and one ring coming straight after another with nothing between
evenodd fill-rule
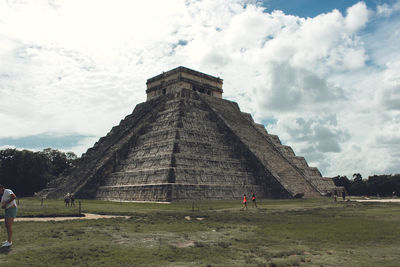
<instances>
[{"instance_id":1,"label":"large grey stepped stone pyramid with temple on top","mask_svg":"<svg viewBox=\"0 0 400 267\"><path fill-rule=\"evenodd\" d=\"M318 197L335 188L278 136L222 99L222 79L178 67L42 191L125 201Z\"/></svg>"}]
</instances>

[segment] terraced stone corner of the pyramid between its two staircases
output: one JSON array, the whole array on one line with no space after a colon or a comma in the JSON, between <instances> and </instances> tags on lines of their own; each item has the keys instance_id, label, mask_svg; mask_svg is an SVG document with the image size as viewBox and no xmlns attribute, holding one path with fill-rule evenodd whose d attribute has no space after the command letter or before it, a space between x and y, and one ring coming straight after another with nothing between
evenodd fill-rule
<instances>
[{"instance_id":1,"label":"terraced stone corner of the pyramid between its two staircases","mask_svg":"<svg viewBox=\"0 0 400 267\"><path fill-rule=\"evenodd\" d=\"M95 198L170 201L265 195L248 162L225 138L198 94L167 97L135 147L104 179Z\"/></svg>"}]
</instances>

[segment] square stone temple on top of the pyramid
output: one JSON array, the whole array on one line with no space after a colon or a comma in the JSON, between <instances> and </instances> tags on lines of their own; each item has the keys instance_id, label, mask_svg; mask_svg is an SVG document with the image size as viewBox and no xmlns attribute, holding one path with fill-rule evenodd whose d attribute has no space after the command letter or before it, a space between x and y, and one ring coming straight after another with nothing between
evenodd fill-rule
<instances>
[{"instance_id":1,"label":"square stone temple on top of the pyramid","mask_svg":"<svg viewBox=\"0 0 400 267\"><path fill-rule=\"evenodd\" d=\"M177 67L147 80L147 100L189 89L222 98L222 79L185 67Z\"/></svg>"}]
</instances>

